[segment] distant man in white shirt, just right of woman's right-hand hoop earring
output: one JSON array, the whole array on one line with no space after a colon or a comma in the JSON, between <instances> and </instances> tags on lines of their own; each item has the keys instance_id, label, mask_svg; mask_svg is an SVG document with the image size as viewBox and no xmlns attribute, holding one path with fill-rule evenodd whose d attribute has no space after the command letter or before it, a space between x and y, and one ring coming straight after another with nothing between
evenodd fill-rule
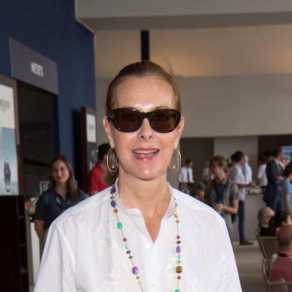
<instances>
[{"instance_id":1,"label":"distant man in white shirt, just right of woman's right-hand hoop earring","mask_svg":"<svg viewBox=\"0 0 292 292\"><path fill-rule=\"evenodd\" d=\"M191 159L186 160L178 174L179 189L189 195L193 195L194 191L194 178L193 178L193 162Z\"/></svg>"}]
</instances>

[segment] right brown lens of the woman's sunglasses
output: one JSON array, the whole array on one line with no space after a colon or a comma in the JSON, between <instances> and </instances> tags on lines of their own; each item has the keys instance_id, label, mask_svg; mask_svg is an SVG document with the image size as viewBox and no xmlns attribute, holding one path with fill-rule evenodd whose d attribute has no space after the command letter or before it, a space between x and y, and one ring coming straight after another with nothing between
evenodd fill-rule
<instances>
[{"instance_id":1,"label":"right brown lens of the woman's sunglasses","mask_svg":"<svg viewBox=\"0 0 292 292\"><path fill-rule=\"evenodd\" d=\"M160 132L167 133L177 126L179 115L173 110L158 110L151 116L152 127Z\"/></svg>"}]
</instances>

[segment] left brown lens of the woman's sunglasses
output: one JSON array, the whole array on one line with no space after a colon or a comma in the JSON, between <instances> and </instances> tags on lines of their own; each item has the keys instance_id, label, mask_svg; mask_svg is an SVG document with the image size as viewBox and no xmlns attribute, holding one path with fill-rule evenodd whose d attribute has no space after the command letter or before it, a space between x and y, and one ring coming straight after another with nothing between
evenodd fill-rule
<instances>
[{"instance_id":1,"label":"left brown lens of the woman's sunglasses","mask_svg":"<svg viewBox=\"0 0 292 292\"><path fill-rule=\"evenodd\" d=\"M134 132L141 125L141 116L133 110L121 110L115 113L115 123L123 132Z\"/></svg>"}]
</instances>

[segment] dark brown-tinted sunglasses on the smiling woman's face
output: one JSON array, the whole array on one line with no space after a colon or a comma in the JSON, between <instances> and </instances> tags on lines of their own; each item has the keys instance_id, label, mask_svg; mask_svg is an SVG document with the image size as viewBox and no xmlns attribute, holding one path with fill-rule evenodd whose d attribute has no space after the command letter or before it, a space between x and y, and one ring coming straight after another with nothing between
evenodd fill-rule
<instances>
[{"instance_id":1,"label":"dark brown-tinted sunglasses on the smiling woman's face","mask_svg":"<svg viewBox=\"0 0 292 292\"><path fill-rule=\"evenodd\" d=\"M107 117L121 132L136 131L146 118L155 131L169 133L179 124L181 113L175 109L158 109L145 113L135 109L118 108L107 112Z\"/></svg>"}]
</instances>

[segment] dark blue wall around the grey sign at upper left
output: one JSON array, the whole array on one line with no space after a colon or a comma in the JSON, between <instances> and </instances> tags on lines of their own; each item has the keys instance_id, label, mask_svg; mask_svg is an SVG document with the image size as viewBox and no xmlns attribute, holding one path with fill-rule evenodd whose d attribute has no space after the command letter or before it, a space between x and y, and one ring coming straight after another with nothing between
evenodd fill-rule
<instances>
[{"instance_id":1,"label":"dark blue wall around the grey sign at upper left","mask_svg":"<svg viewBox=\"0 0 292 292\"><path fill-rule=\"evenodd\" d=\"M9 37L58 64L59 152L81 171L80 107L95 109L94 34L75 20L74 0L0 5L0 74L11 77ZM76 133L77 132L77 133ZM79 175L78 175L79 176Z\"/></svg>"}]
</instances>

